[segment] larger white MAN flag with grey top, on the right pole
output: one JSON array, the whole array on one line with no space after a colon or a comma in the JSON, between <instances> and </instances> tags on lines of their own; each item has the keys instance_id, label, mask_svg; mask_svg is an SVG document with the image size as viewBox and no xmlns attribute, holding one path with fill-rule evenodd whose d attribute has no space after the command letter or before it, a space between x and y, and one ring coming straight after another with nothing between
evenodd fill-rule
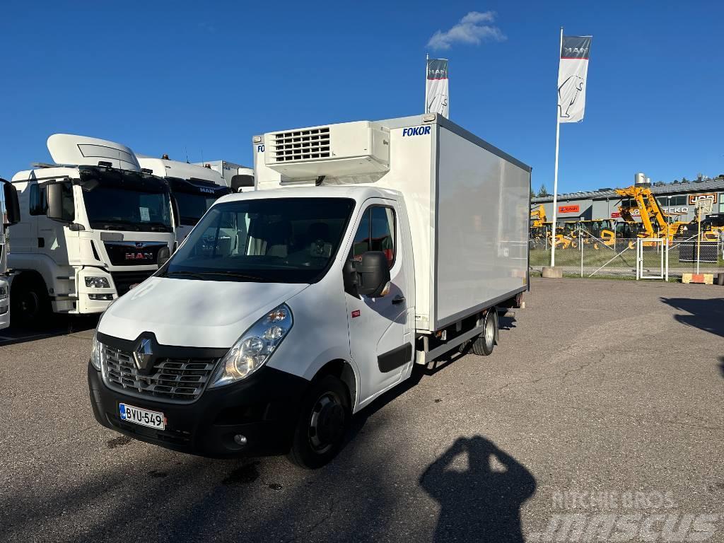
<instances>
[{"instance_id":1,"label":"larger white MAN flag with grey top, on the right pole","mask_svg":"<svg viewBox=\"0 0 724 543\"><path fill-rule=\"evenodd\" d=\"M591 36L566 35L558 64L558 122L579 122L586 108Z\"/></svg>"}]
</instances>

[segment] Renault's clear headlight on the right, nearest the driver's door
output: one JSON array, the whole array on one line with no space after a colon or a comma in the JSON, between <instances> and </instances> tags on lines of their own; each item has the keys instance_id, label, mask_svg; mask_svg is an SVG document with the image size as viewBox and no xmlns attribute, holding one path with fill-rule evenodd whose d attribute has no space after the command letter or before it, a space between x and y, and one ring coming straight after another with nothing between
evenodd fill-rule
<instances>
[{"instance_id":1,"label":"Renault's clear headlight on the right, nearest the driver's door","mask_svg":"<svg viewBox=\"0 0 724 543\"><path fill-rule=\"evenodd\" d=\"M253 374L292 329L292 310L287 304L269 311L256 321L229 349L211 379L210 387L221 387Z\"/></svg>"}]
</instances>

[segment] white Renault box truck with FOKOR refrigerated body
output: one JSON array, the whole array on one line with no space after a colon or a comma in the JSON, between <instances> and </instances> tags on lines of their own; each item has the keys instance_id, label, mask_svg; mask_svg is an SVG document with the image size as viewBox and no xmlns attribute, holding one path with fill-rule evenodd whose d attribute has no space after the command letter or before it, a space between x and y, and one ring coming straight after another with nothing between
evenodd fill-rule
<instances>
[{"instance_id":1,"label":"white Renault box truck with FOKOR refrigerated body","mask_svg":"<svg viewBox=\"0 0 724 543\"><path fill-rule=\"evenodd\" d=\"M414 363L491 353L529 286L531 169L434 114L254 146L260 190L219 198L104 313L90 399L146 442L313 468Z\"/></svg>"}]
</instances>

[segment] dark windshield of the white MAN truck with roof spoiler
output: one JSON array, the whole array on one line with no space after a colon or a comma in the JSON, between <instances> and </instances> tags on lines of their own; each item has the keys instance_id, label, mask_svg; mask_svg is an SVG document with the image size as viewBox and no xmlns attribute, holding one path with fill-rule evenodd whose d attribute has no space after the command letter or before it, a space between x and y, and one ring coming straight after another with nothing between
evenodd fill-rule
<instances>
[{"instance_id":1,"label":"dark windshield of the white MAN truck with roof spoiler","mask_svg":"<svg viewBox=\"0 0 724 543\"><path fill-rule=\"evenodd\" d=\"M85 169L80 179L91 228L173 231L168 188L159 177L121 170Z\"/></svg>"}]
</instances>

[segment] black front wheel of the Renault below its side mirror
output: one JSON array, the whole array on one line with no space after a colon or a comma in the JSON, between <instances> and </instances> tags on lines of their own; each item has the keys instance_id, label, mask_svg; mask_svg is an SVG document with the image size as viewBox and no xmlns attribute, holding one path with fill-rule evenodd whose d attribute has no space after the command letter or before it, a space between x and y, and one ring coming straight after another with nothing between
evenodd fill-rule
<instances>
[{"instance_id":1,"label":"black front wheel of the Renault below its side mirror","mask_svg":"<svg viewBox=\"0 0 724 543\"><path fill-rule=\"evenodd\" d=\"M347 387L332 375L313 381L300 405L289 460L306 469L321 468L340 452L352 410Z\"/></svg>"}]
</instances>

